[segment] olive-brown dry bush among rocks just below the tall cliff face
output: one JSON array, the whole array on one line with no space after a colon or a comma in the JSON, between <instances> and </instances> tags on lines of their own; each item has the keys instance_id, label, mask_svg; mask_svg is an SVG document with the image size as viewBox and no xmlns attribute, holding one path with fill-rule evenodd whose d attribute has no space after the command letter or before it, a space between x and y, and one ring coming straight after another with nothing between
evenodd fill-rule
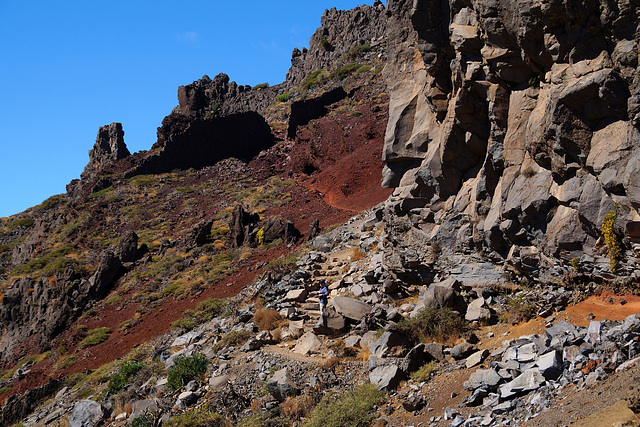
<instances>
[{"instance_id":1,"label":"olive-brown dry bush among rocks just below the tall cliff face","mask_svg":"<svg viewBox=\"0 0 640 427\"><path fill-rule=\"evenodd\" d=\"M460 337L465 323L458 313L449 308L427 307L416 317L401 321L398 326L414 342L446 342Z\"/></svg>"}]
</instances>

